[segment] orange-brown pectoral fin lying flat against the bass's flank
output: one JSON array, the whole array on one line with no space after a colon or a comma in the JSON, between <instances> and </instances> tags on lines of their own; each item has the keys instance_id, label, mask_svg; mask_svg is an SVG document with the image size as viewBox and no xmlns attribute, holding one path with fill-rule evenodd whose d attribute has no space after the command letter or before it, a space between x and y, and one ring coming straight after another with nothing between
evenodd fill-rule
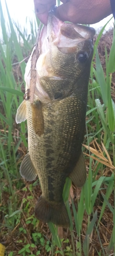
<instances>
[{"instance_id":1,"label":"orange-brown pectoral fin lying flat against the bass's flank","mask_svg":"<svg viewBox=\"0 0 115 256\"><path fill-rule=\"evenodd\" d=\"M44 134L44 117L42 114L41 102L36 100L32 106L32 122L35 134L41 136Z\"/></svg>"}]
</instances>

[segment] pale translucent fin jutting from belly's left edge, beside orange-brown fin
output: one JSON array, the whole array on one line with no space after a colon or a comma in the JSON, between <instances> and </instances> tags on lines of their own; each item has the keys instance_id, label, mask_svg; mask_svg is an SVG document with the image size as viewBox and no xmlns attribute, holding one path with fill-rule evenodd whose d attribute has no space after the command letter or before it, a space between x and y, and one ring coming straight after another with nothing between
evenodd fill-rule
<instances>
[{"instance_id":1,"label":"pale translucent fin jutting from belly's left edge, beside orange-brown fin","mask_svg":"<svg viewBox=\"0 0 115 256\"><path fill-rule=\"evenodd\" d=\"M23 100L23 102L20 104L19 108L17 109L15 120L17 123L21 123L26 120L26 101L25 100Z\"/></svg>"}]
</instances>

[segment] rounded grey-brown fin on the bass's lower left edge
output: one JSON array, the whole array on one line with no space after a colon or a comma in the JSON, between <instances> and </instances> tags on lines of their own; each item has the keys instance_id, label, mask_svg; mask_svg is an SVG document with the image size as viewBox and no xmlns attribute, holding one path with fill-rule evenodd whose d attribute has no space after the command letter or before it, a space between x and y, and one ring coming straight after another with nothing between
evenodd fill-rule
<instances>
[{"instance_id":1,"label":"rounded grey-brown fin on the bass's lower left edge","mask_svg":"<svg viewBox=\"0 0 115 256\"><path fill-rule=\"evenodd\" d=\"M37 176L37 172L34 168L34 164L31 160L29 153L23 158L20 167L20 173L22 177L25 178L27 181L33 181Z\"/></svg>"}]
</instances>

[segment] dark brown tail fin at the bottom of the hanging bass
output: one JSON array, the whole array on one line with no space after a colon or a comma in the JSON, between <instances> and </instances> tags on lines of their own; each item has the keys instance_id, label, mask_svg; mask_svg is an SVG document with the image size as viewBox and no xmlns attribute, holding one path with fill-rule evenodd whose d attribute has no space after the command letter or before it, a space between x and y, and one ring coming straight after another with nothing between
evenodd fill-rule
<instances>
[{"instance_id":1,"label":"dark brown tail fin at the bottom of the hanging bass","mask_svg":"<svg viewBox=\"0 0 115 256\"><path fill-rule=\"evenodd\" d=\"M57 226L70 226L69 216L64 202L47 201L42 195L35 206L35 217L44 223L51 221Z\"/></svg>"}]
</instances>

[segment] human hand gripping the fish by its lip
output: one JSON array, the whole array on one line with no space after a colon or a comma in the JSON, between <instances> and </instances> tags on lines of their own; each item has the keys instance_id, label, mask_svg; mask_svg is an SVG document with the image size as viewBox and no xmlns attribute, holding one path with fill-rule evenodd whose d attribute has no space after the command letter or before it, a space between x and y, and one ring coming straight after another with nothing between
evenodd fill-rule
<instances>
[{"instance_id":1,"label":"human hand gripping the fish by its lip","mask_svg":"<svg viewBox=\"0 0 115 256\"><path fill-rule=\"evenodd\" d=\"M93 24L112 13L110 0L61 0L63 4L56 9L56 16L62 21L79 24ZM56 0L34 0L37 17L45 25L48 12Z\"/></svg>"}]
</instances>

